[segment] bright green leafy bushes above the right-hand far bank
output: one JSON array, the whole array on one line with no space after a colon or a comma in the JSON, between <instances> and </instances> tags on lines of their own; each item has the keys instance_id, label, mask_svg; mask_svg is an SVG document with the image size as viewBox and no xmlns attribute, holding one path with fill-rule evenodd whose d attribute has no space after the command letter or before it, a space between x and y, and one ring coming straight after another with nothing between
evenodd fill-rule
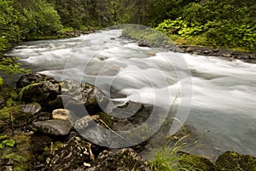
<instances>
[{"instance_id":1,"label":"bright green leafy bushes above the right-hand far bank","mask_svg":"<svg viewBox=\"0 0 256 171\"><path fill-rule=\"evenodd\" d=\"M247 4L251 4L248 8ZM176 34L189 38L205 37L192 45L239 48L256 51L255 3L232 1L207 1L203 4L189 3L182 17L168 19L160 23L157 29L168 35ZM192 41L193 42L193 41Z\"/></svg>"}]
</instances>

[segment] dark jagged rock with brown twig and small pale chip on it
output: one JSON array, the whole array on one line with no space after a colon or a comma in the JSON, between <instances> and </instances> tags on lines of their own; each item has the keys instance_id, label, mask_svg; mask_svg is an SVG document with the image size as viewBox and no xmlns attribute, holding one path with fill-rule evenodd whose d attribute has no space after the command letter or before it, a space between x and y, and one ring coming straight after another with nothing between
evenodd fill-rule
<instances>
[{"instance_id":1,"label":"dark jagged rock with brown twig and small pale chip on it","mask_svg":"<svg viewBox=\"0 0 256 171\"><path fill-rule=\"evenodd\" d=\"M47 159L47 168L52 171L88 168L93 160L91 144L79 136L73 136Z\"/></svg>"}]
</instances>

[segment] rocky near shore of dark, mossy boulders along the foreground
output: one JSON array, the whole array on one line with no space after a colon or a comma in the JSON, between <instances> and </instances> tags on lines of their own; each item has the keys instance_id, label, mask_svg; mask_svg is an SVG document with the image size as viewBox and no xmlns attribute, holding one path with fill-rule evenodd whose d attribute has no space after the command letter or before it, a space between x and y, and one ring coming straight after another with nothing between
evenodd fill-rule
<instances>
[{"instance_id":1,"label":"rocky near shore of dark, mossy boulders along the foreground","mask_svg":"<svg viewBox=\"0 0 256 171\"><path fill-rule=\"evenodd\" d=\"M123 119L103 111L109 102L94 85L58 82L37 73L21 76L16 88L1 88L0 170L160 170L139 155L147 140L139 148L108 148L108 144L121 140L118 136L109 139L116 135L115 130L142 124L152 106L127 101L113 109L118 116L120 109L128 113L132 106L137 108L135 115ZM80 106L88 115L78 110ZM98 134L99 126L112 133ZM167 139L177 142L177 137ZM231 151L224 152L215 163L181 151L175 155L182 157L173 164L192 170L256 170L255 157Z\"/></svg>"}]
</instances>

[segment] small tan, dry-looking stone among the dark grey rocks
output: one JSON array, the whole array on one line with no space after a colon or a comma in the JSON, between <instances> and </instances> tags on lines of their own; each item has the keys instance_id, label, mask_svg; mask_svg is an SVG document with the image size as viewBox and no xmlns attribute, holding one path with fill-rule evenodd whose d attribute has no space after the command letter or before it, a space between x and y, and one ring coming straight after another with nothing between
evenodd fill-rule
<instances>
[{"instance_id":1,"label":"small tan, dry-looking stone among the dark grey rocks","mask_svg":"<svg viewBox=\"0 0 256 171\"><path fill-rule=\"evenodd\" d=\"M54 119L66 120L70 123L74 123L77 120L73 111L68 111L67 109L55 109L55 111L52 111L52 117Z\"/></svg>"}]
</instances>

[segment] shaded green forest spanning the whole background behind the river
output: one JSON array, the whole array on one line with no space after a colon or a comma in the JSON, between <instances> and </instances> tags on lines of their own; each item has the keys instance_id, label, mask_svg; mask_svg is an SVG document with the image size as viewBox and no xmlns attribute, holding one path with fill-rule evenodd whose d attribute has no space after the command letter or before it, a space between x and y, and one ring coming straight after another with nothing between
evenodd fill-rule
<instances>
[{"instance_id":1,"label":"shaded green forest spanning the whole background behind the river","mask_svg":"<svg viewBox=\"0 0 256 171\"><path fill-rule=\"evenodd\" d=\"M256 51L255 0L0 0L0 52L21 40L128 23L179 44Z\"/></svg>"}]
</instances>

